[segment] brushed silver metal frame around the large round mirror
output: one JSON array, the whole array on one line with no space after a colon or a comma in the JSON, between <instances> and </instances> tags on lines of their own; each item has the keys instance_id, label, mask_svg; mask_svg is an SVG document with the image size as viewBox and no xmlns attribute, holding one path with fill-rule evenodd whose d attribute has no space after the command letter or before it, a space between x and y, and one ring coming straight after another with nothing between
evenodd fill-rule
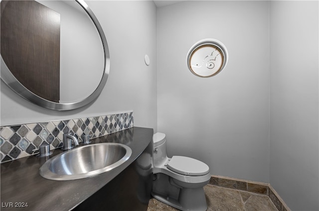
<instances>
[{"instance_id":1,"label":"brushed silver metal frame around the large round mirror","mask_svg":"<svg viewBox=\"0 0 319 211\"><path fill-rule=\"evenodd\" d=\"M104 48L104 73L102 76L102 79L100 81L100 84L96 88L96 90L87 98L83 99L82 101L78 101L75 103L67 103L67 104L62 104L62 103L55 103L52 101L48 101L46 99L43 99L34 93L30 92L28 89L26 89L10 72L8 67L5 65L2 56L1 56L1 80L8 86L10 87L14 92L16 92L18 95L20 95L22 98L30 101L33 104L36 104L37 106L42 106L54 110L72 110L76 109L82 106L85 106L89 103L91 103L93 100L95 100L100 93L102 92L106 81L109 76L110 72L110 53L109 53L109 47L108 43L106 41L105 34L103 32L102 26L100 25L98 19L94 15L93 11L89 8L89 6L84 2L84 0L75 0L78 2L82 8L87 12L87 14L91 17L93 23L95 24ZM2 66L3 65L3 66Z\"/></svg>"}]
</instances>

